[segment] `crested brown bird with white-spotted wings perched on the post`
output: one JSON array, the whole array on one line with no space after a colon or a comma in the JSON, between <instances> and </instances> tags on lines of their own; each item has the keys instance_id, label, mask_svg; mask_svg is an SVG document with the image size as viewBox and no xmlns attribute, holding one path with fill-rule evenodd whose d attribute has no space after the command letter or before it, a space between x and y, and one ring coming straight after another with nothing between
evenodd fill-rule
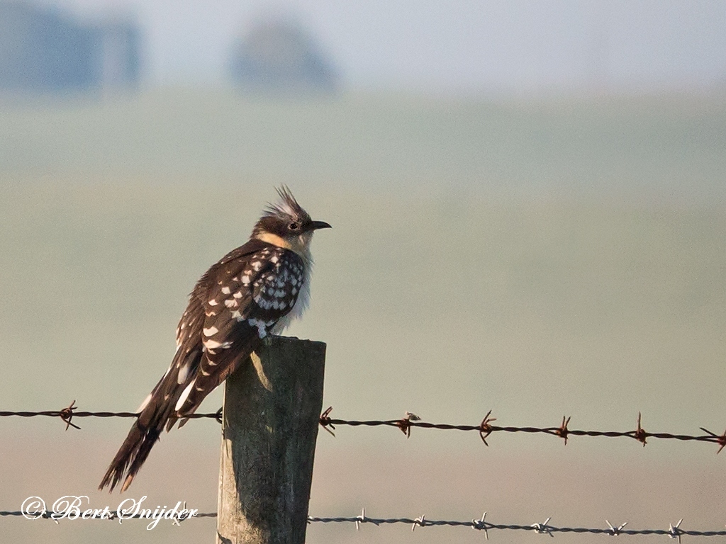
<instances>
[{"instance_id":1,"label":"crested brown bird with white-spotted wings perched on the post","mask_svg":"<svg viewBox=\"0 0 726 544\"><path fill-rule=\"evenodd\" d=\"M248 242L224 255L197 281L176 328L176 353L111 461L99 490L123 480L126 491L160 434L187 422L204 397L269 337L305 310L310 296L313 221L290 189L265 208ZM185 419L186 418L186 419Z\"/></svg>"}]
</instances>

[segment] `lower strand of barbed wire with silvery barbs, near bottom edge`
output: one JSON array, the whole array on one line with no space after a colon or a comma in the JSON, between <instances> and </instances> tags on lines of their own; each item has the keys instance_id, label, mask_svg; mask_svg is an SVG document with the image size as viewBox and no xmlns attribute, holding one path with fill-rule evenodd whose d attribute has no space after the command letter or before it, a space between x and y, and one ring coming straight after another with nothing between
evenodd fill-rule
<instances>
[{"instance_id":1,"label":"lower strand of barbed wire with silvery barbs, near bottom edge","mask_svg":"<svg viewBox=\"0 0 726 544\"><path fill-rule=\"evenodd\" d=\"M186 503L184 504L186 507ZM449 520L449 519L427 519L426 516L419 516L417 518L372 518L368 517L365 514L365 508L363 508L362 513L359 516L355 517L317 517L317 516L308 516L308 523L322 523L322 524L328 524L328 523L351 523L355 524L356 530L360 529L361 524L370 523L375 525L376 527L380 525L390 525L390 524L407 524L411 526L411 530L415 530L417 527L470 527L471 529L477 529L478 531L484 531L484 535L487 540L489 540L489 531L490 530L510 530L510 531L531 531L539 533L540 535L550 535L554 536L554 533L556 532L574 532L574 533L590 533L592 535L609 535L609 536L619 536L619 535L667 535L671 538L677 538L680 542L680 539L682 535L688 535L693 537L717 537L717 536L726 536L726 530L719 530L719 531L699 531L699 530L687 530L687 529L681 529L680 525L683 522L683 519L680 519L677 524L669 524L668 529L625 529L625 526L628 524L628 522L624 522L623 524L618 525L617 527L611 524L607 519L605 519L605 523L608 525L607 528L605 527L557 527L555 525L550 524L551 517L548 517L544 520L544 522L541 523L533 523L529 525L518 525L518 524L497 524L492 522L486 521L486 512L481 516L479 519L472 519L470 521L456 521L456 520ZM0 517L3 516L25 516L26 514L23 513L23 511L17 510L17 511L4 511L0 510ZM52 519L54 522L58 522L58 519L54 519L53 512L52 511L44 511L41 513L38 513L38 518L43 519ZM206 512L206 513L199 513L194 514L194 516L191 516L191 518L216 518L217 513L216 512ZM171 521L179 525L179 522L186 521L187 519L191 518L185 518L182 520L179 519L172 519ZM114 519L118 519L118 522L121 523L122 519L123 521L126 521L126 519L151 519L147 516L144 516L142 514L134 514L133 516L123 516L123 518L120 518L118 514L115 514L115 512L112 512L110 516L104 517L104 518L91 518L91 519L107 519L110 521L113 521Z\"/></svg>"}]
</instances>

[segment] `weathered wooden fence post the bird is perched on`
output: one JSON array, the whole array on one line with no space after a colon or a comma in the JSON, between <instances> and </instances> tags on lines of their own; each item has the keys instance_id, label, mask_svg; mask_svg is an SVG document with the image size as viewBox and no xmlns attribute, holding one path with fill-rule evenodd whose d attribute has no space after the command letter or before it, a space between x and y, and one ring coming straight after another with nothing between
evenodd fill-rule
<instances>
[{"instance_id":1,"label":"weathered wooden fence post the bird is perched on","mask_svg":"<svg viewBox=\"0 0 726 544\"><path fill-rule=\"evenodd\" d=\"M227 378L218 544L303 544L325 343L272 337Z\"/></svg>"}]
</instances>

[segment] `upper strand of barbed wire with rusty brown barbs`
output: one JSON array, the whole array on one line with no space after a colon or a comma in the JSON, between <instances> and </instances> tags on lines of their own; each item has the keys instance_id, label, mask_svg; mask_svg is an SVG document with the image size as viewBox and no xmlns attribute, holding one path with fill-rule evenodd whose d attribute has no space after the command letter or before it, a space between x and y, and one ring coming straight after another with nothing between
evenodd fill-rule
<instances>
[{"instance_id":1,"label":"upper strand of barbed wire with rusty brown barbs","mask_svg":"<svg viewBox=\"0 0 726 544\"><path fill-rule=\"evenodd\" d=\"M648 432L643 429L641 424L642 415L639 412L637 416L637 422L635 429L631 431L587 431L580 429L570 429L571 417L563 416L562 422L558 426L549 427L537 427L537 426L499 426L493 425L493 421L497 421L497 418L492 417L492 411L486 413L484 419L478 425L467 425L467 424L445 424L445 423L429 423L428 421L421 421L420 417L414 413L406 412L404 417L401 419L370 419L370 420L354 420L354 419L333 419L330 417L330 413L333 411L333 407L327 408L320 415L319 423L327 432L333 434L333 430L336 425L347 425L347 426L391 426L400 429L407 437L411 436L411 429L419 427L420 429L440 429L445 431L474 431L478 432L479 437L485 445L489 445L486 439L490 434L494 432L523 432L526 434L549 434L551 436L562 438L567 444L570 437L605 437L605 438L632 438L642 443L645 446L648 443L648 439L655 438L660 440L680 440L684 442L709 442L712 444L719 445L719 449L716 453L720 453L723 448L726 447L726 431L723 434L715 434L714 432L699 427L701 431L706 434L673 434L669 432ZM73 400L70 405L62 410L46 410L46 411L0 411L0 417L54 417L60 418L65 423L65 428L68 430L69 426L75 429L80 429L78 425L73 423L73 418L84 418L84 417L97 417L97 418L136 418L139 413L136 412L94 412L94 411L79 411L76 406L76 400ZM222 409L213 413L192 413L186 416L188 419L215 419L218 423L221 423Z\"/></svg>"}]
</instances>

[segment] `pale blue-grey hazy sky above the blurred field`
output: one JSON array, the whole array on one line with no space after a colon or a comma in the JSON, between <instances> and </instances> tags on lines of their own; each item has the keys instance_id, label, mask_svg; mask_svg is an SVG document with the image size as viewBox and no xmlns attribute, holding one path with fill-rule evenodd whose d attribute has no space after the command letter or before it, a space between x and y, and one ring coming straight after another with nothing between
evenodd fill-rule
<instances>
[{"instance_id":1,"label":"pale blue-grey hazy sky above the blurred field","mask_svg":"<svg viewBox=\"0 0 726 544\"><path fill-rule=\"evenodd\" d=\"M298 20L347 86L413 91L653 91L726 84L726 2L704 0L37 0L132 17L144 81L221 83L256 20Z\"/></svg>"}]
</instances>

